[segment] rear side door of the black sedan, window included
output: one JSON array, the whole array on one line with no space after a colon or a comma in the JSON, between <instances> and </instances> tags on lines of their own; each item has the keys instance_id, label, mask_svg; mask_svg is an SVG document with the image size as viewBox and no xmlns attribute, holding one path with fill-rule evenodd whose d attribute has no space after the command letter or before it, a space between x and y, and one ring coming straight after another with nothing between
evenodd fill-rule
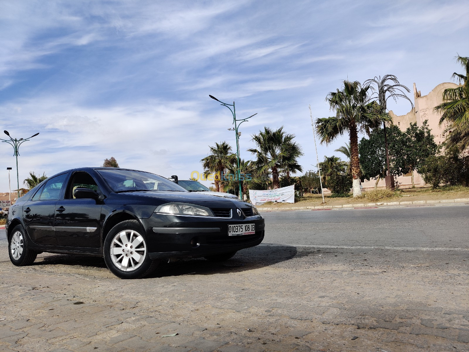
<instances>
[{"instance_id":1,"label":"rear side door of the black sedan, window included","mask_svg":"<svg viewBox=\"0 0 469 352\"><path fill-rule=\"evenodd\" d=\"M31 240L38 245L57 245L54 232L55 203L60 198L68 174L49 179L23 205L23 221Z\"/></svg>"}]
</instances>

